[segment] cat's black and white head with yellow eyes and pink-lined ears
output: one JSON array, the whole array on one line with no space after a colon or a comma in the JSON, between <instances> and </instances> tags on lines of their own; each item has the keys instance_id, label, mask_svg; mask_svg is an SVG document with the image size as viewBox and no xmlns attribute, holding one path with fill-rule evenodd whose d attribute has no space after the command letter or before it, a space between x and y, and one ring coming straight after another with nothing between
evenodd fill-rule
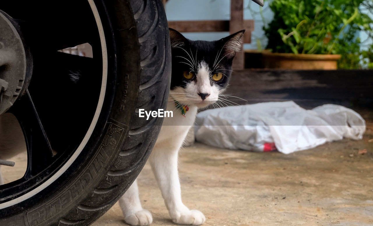
<instances>
[{"instance_id":1,"label":"cat's black and white head with yellow eyes and pink-lined ears","mask_svg":"<svg viewBox=\"0 0 373 226\"><path fill-rule=\"evenodd\" d=\"M170 100L199 108L217 101L231 77L233 57L241 49L244 32L217 41L191 41L170 28Z\"/></svg>"}]
</instances>

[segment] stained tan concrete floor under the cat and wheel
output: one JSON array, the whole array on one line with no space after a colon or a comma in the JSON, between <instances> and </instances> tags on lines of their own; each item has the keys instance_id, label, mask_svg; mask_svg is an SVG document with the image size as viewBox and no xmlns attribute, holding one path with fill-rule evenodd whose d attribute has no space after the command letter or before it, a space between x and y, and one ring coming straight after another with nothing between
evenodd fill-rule
<instances>
[{"instance_id":1,"label":"stained tan concrete floor under the cat and wheel","mask_svg":"<svg viewBox=\"0 0 373 226\"><path fill-rule=\"evenodd\" d=\"M344 139L289 155L196 143L180 154L183 201L205 214L204 225L372 226L371 139L372 123L361 141ZM363 149L367 153L358 154ZM5 182L22 173L25 158L13 158L18 168L1 167ZM148 164L138 182L142 205L153 214L152 225L174 225ZM119 205L93 225L125 225Z\"/></svg>"}]
</instances>

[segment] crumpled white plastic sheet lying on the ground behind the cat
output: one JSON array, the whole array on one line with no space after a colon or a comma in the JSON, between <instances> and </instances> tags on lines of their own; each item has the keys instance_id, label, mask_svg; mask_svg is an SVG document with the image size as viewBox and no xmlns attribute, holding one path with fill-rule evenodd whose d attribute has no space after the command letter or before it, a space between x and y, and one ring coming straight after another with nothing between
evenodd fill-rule
<instances>
[{"instance_id":1,"label":"crumpled white plastic sheet lying on the ground behind the cat","mask_svg":"<svg viewBox=\"0 0 373 226\"><path fill-rule=\"evenodd\" d=\"M195 138L207 145L284 154L343 138L362 139L365 120L347 107L325 104L306 110L294 101L205 110L197 114Z\"/></svg>"}]
</instances>

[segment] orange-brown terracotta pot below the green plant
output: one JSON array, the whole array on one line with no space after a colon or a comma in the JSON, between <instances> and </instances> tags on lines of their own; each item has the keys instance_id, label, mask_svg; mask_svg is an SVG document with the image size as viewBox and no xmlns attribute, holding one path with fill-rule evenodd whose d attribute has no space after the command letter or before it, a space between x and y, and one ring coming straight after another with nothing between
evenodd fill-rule
<instances>
[{"instance_id":1,"label":"orange-brown terracotta pot below the green plant","mask_svg":"<svg viewBox=\"0 0 373 226\"><path fill-rule=\"evenodd\" d=\"M341 55L263 53L264 68L294 70L336 70Z\"/></svg>"}]
</instances>

